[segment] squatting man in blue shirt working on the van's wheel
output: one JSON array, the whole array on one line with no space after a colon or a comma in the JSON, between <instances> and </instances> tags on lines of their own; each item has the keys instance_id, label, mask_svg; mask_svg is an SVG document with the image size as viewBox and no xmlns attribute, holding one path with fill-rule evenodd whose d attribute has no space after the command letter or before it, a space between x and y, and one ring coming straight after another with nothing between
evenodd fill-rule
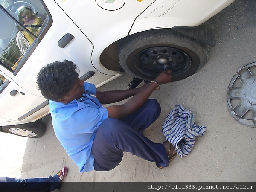
<instances>
[{"instance_id":1,"label":"squatting man in blue shirt working on the van's wheel","mask_svg":"<svg viewBox=\"0 0 256 192\"><path fill-rule=\"evenodd\" d=\"M172 144L154 143L142 133L161 112L157 100L148 97L171 81L171 70L139 88L104 92L78 76L72 61L56 61L41 68L37 84L49 99L55 135L80 172L114 169L124 151L167 167L177 154ZM122 105L102 107L129 97Z\"/></svg>"}]
</instances>

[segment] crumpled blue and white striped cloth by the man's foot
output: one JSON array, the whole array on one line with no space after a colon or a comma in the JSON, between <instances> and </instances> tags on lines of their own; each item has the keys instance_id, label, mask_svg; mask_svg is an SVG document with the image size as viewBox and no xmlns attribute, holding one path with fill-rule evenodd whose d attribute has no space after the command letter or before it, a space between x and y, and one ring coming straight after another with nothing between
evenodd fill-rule
<instances>
[{"instance_id":1,"label":"crumpled blue and white striped cloth by the man's foot","mask_svg":"<svg viewBox=\"0 0 256 192\"><path fill-rule=\"evenodd\" d=\"M181 105L175 105L172 112L166 117L162 131L182 158L182 155L186 156L191 152L195 144L195 137L203 136L206 127L195 125L195 117L191 111Z\"/></svg>"}]
</instances>

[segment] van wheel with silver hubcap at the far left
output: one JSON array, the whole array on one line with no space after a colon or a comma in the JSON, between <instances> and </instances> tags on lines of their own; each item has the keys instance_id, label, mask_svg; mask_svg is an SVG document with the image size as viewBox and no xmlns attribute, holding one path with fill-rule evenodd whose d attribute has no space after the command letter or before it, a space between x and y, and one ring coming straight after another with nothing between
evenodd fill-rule
<instances>
[{"instance_id":1,"label":"van wheel with silver hubcap at the far left","mask_svg":"<svg viewBox=\"0 0 256 192\"><path fill-rule=\"evenodd\" d=\"M45 124L41 119L36 122L3 126L4 131L21 137L38 138L44 135Z\"/></svg>"}]
</instances>

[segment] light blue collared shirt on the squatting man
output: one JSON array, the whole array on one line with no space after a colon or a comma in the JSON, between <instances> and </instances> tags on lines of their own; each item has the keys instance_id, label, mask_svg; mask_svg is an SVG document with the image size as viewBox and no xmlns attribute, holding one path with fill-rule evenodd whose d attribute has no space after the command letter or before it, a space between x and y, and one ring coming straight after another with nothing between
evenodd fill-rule
<instances>
[{"instance_id":1,"label":"light blue collared shirt on the squatting man","mask_svg":"<svg viewBox=\"0 0 256 192\"><path fill-rule=\"evenodd\" d=\"M83 97L67 104L49 101L56 137L80 172L93 170L91 148L99 125L108 118L96 95L94 84L84 83Z\"/></svg>"}]
</instances>

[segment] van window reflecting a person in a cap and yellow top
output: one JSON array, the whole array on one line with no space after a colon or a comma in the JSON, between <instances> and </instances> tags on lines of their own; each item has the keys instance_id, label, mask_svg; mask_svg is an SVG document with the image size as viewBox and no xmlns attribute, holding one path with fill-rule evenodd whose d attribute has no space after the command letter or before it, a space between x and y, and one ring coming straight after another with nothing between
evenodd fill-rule
<instances>
[{"instance_id":1,"label":"van window reflecting a person in a cap and yellow top","mask_svg":"<svg viewBox=\"0 0 256 192\"><path fill-rule=\"evenodd\" d=\"M40 0L0 0L0 5L0 63L13 72L40 41L48 15Z\"/></svg>"}]
</instances>

